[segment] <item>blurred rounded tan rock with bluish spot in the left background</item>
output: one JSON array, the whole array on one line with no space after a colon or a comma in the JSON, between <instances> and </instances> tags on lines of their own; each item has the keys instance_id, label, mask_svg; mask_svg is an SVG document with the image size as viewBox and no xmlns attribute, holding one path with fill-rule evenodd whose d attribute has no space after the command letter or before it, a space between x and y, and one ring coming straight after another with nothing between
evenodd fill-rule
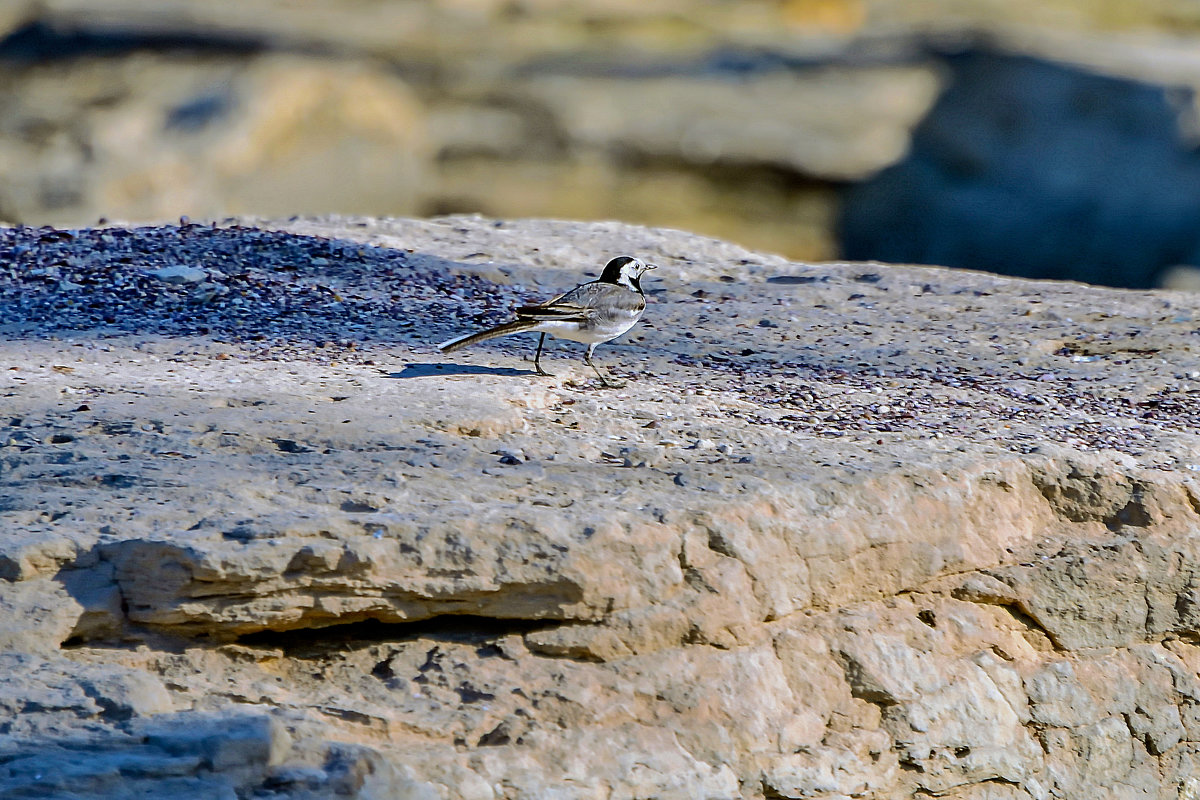
<instances>
[{"instance_id":1,"label":"blurred rounded tan rock with bluish spot in the left background","mask_svg":"<svg viewBox=\"0 0 1200 800\"><path fill-rule=\"evenodd\" d=\"M0 136L13 164L0 207L14 218L402 212L421 190L420 106L361 61L143 53L24 64L10 77L6 119L40 130Z\"/></svg>"}]
</instances>

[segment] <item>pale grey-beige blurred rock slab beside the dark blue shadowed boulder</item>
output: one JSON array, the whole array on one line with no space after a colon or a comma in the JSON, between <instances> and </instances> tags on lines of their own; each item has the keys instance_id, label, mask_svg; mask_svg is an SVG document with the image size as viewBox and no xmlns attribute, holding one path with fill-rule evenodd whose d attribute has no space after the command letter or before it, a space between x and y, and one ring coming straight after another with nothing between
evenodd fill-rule
<instances>
[{"instance_id":1,"label":"pale grey-beige blurred rock slab beside the dark blue shadowed boulder","mask_svg":"<svg viewBox=\"0 0 1200 800\"><path fill-rule=\"evenodd\" d=\"M727 80L701 71L636 79L551 74L510 91L551 109L572 149L770 166L840 181L899 161L938 86L932 70L912 66L764 68ZM659 110L642 113L648 108Z\"/></svg>"}]
</instances>

